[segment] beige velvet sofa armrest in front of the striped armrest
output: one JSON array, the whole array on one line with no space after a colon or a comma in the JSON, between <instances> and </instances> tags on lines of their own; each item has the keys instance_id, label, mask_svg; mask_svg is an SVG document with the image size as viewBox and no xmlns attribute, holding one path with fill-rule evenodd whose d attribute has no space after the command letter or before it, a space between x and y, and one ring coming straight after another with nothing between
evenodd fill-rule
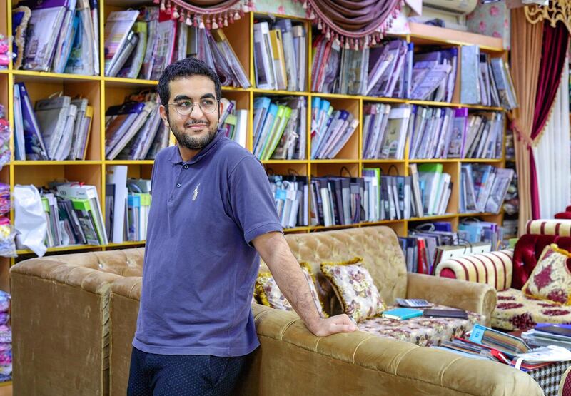
<instances>
[{"instance_id":1,"label":"beige velvet sofa armrest in front of the striped armrest","mask_svg":"<svg viewBox=\"0 0 571 396\"><path fill-rule=\"evenodd\" d=\"M488 325L496 303L496 291L490 285L418 273L408 273L406 297L485 315Z\"/></svg>"}]
</instances>

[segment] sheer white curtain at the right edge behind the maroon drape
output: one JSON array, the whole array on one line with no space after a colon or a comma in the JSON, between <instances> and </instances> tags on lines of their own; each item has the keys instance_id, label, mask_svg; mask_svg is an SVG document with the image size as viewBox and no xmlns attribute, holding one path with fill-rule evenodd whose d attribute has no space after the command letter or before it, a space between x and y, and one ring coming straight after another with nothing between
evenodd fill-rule
<instances>
[{"instance_id":1,"label":"sheer white curtain at the right edge behind the maroon drape","mask_svg":"<svg viewBox=\"0 0 571 396\"><path fill-rule=\"evenodd\" d=\"M569 138L569 65L564 62L552 113L539 143L533 148L537 162L540 218L553 218L571 202Z\"/></svg>"}]
</instances>

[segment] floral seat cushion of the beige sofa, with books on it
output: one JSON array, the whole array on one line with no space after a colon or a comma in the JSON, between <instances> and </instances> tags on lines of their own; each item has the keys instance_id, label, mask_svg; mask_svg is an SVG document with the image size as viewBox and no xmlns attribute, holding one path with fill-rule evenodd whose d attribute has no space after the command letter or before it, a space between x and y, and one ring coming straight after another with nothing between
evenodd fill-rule
<instances>
[{"instance_id":1,"label":"floral seat cushion of the beige sofa, with books on it","mask_svg":"<svg viewBox=\"0 0 571 396\"><path fill-rule=\"evenodd\" d=\"M387 309L398 308L396 306ZM444 305L434 305L434 308L450 308ZM468 312L468 319L456 318L426 318L418 316L407 320L388 318L370 318L359 323L359 330L371 332L380 337L413 342L420 346L440 345L452 337L463 337L472 330L474 323L484 324L483 315Z\"/></svg>"}]
</instances>

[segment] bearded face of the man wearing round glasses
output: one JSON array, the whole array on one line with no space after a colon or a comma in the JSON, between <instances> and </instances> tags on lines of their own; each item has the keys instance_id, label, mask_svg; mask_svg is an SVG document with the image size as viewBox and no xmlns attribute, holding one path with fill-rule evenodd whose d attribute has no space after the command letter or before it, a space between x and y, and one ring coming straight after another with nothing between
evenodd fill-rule
<instances>
[{"instance_id":1,"label":"bearded face of the man wearing round glasses","mask_svg":"<svg viewBox=\"0 0 571 396\"><path fill-rule=\"evenodd\" d=\"M206 76L176 78L168 84L171 98L168 106L161 106L161 116L166 118L178 144L190 150L200 150L212 141L218 130L220 108L216 103L214 82ZM212 113L201 110L215 102ZM177 103L171 105L170 103ZM181 115L178 111L192 106L191 113ZM201 106L198 106L201 103ZM178 109L178 111L177 111Z\"/></svg>"}]
</instances>

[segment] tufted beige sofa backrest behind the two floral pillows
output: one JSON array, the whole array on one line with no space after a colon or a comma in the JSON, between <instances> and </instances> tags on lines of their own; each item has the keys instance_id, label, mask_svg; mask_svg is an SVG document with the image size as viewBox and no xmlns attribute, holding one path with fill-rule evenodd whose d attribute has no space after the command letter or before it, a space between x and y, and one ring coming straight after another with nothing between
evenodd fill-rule
<instances>
[{"instance_id":1,"label":"tufted beige sofa backrest behind the two floral pillows","mask_svg":"<svg viewBox=\"0 0 571 396\"><path fill-rule=\"evenodd\" d=\"M355 256L363 258L363 265L373 277L385 303L406 295L406 264L395 232L386 226L350 228L348 230L323 231L285 235L295 258L311 265L318 280L318 289L325 309L335 299L328 280L320 270L320 264L328 261L345 261Z\"/></svg>"}]
</instances>

